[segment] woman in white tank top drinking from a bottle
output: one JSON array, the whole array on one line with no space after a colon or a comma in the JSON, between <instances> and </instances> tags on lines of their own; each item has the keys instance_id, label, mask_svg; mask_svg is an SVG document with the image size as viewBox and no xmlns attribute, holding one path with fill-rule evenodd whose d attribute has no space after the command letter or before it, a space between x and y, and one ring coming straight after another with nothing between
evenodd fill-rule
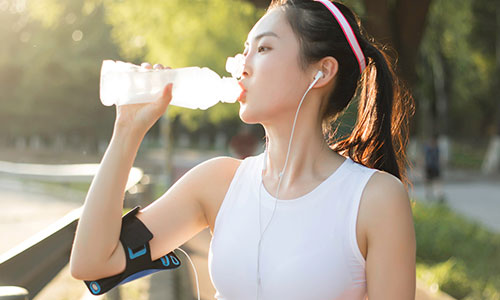
<instances>
[{"instance_id":1,"label":"woman in white tank top drinking from a bottle","mask_svg":"<svg viewBox=\"0 0 500 300\"><path fill-rule=\"evenodd\" d=\"M245 46L239 115L262 124L266 151L203 162L142 209L151 259L209 226L217 299L414 299L415 233L402 183L412 102L386 55L347 7L326 0L273 1ZM329 125L357 87L358 121L335 143ZM127 175L171 91L117 107L77 229L75 278L125 270Z\"/></svg>"}]
</instances>

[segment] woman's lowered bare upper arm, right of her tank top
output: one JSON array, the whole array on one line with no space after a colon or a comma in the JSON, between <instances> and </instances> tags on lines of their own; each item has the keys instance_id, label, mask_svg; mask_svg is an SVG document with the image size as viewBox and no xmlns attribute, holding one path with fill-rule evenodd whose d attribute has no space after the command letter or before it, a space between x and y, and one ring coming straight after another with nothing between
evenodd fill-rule
<instances>
[{"instance_id":1,"label":"woman's lowered bare upper arm, right of her tank top","mask_svg":"<svg viewBox=\"0 0 500 300\"><path fill-rule=\"evenodd\" d=\"M368 299L415 299L416 240L408 193L398 178L376 172L363 198Z\"/></svg>"}]
</instances>

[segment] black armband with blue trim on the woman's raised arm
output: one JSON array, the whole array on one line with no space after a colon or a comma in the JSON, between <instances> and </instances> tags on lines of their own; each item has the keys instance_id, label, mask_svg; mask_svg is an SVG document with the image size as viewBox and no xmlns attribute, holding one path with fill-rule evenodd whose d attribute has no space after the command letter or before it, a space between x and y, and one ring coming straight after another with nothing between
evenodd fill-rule
<instances>
[{"instance_id":1,"label":"black armband with blue trim on the woman's raised arm","mask_svg":"<svg viewBox=\"0 0 500 300\"><path fill-rule=\"evenodd\" d=\"M173 251L151 261L149 241L153 238L153 234L141 220L135 217L140 209L140 206L136 206L122 218L120 241L127 259L125 271L94 281L84 280L85 285L93 295L102 295L115 286L155 272L180 267L181 261Z\"/></svg>"}]
</instances>

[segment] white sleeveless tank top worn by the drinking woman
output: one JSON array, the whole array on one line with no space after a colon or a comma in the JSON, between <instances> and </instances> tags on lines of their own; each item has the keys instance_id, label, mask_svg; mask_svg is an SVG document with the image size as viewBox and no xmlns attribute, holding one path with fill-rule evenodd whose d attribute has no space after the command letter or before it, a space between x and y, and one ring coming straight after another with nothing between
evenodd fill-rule
<instances>
[{"instance_id":1,"label":"white sleeveless tank top worn by the drinking woman","mask_svg":"<svg viewBox=\"0 0 500 300\"><path fill-rule=\"evenodd\" d=\"M216 299L256 299L263 158L264 153L241 162L217 213L208 254ZM261 242L261 299L366 299L356 219L375 171L347 158L311 192L278 200ZM261 202L263 232L275 205L264 186Z\"/></svg>"}]
</instances>

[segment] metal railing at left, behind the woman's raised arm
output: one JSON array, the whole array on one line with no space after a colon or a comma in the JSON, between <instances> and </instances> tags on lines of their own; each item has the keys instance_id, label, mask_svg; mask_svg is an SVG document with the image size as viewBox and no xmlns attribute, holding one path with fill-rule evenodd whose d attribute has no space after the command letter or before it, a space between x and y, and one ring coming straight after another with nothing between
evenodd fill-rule
<instances>
[{"instance_id":1,"label":"metal railing at left, behind the woman's raised arm","mask_svg":"<svg viewBox=\"0 0 500 300\"><path fill-rule=\"evenodd\" d=\"M87 170L86 172L75 171ZM95 164L44 166L0 162L0 173L49 181L87 181ZM55 175L56 174L56 175ZM152 200L152 185L142 170L132 168L125 207L145 206ZM36 235L0 255L0 300L35 297L68 264L76 226L83 207L77 208Z\"/></svg>"}]
</instances>

